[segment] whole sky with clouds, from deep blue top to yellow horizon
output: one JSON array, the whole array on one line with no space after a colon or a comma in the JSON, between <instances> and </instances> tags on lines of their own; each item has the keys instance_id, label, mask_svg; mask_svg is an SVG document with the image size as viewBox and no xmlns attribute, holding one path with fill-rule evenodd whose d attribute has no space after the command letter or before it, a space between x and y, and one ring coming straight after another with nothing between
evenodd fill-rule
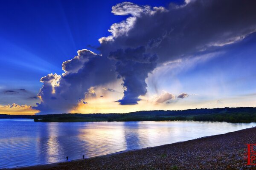
<instances>
[{"instance_id":1,"label":"whole sky with clouds, from deep blue top to yellow horizon","mask_svg":"<svg viewBox=\"0 0 256 170\"><path fill-rule=\"evenodd\" d=\"M3 0L0 113L256 107L256 2Z\"/></svg>"}]
</instances>

